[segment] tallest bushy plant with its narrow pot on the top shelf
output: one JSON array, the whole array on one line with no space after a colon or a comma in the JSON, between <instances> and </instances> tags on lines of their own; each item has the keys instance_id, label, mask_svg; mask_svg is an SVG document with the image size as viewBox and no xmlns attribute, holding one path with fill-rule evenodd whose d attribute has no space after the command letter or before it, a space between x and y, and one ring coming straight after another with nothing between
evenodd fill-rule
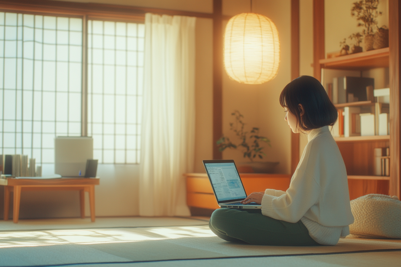
<instances>
[{"instance_id":1,"label":"tallest bushy plant with its narrow pot on the top shelf","mask_svg":"<svg viewBox=\"0 0 401 267\"><path fill-rule=\"evenodd\" d=\"M365 36L365 50L373 50L373 34L377 29L376 18L382 14L377 11L379 0L360 0L354 2L351 9L351 16L358 20L358 27L365 27L362 31Z\"/></svg>"}]
</instances>

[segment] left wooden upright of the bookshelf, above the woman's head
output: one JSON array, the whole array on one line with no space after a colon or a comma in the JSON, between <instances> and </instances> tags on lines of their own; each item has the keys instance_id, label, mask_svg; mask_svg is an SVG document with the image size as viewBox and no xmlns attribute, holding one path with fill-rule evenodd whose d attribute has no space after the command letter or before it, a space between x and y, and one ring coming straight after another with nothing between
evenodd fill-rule
<instances>
[{"instance_id":1,"label":"left wooden upright of the bookshelf, above the woman's head","mask_svg":"<svg viewBox=\"0 0 401 267\"><path fill-rule=\"evenodd\" d=\"M320 81L319 59L324 58L324 0L313 0L313 76Z\"/></svg>"}]
</instances>

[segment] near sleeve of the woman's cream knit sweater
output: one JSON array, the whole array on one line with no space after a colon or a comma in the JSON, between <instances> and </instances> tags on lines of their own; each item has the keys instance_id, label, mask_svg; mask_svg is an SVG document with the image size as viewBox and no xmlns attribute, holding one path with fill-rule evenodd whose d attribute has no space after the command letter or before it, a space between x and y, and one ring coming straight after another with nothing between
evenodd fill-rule
<instances>
[{"instance_id":1,"label":"near sleeve of the woman's cream knit sweater","mask_svg":"<svg viewBox=\"0 0 401 267\"><path fill-rule=\"evenodd\" d=\"M290 223L298 222L319 201L320 187L314 177L304 169L296 170L290 187L284 194L277 196L270 190L268 193L274 195L265 192L262 199L262 214Z\"/></svg>"}]
</instances>

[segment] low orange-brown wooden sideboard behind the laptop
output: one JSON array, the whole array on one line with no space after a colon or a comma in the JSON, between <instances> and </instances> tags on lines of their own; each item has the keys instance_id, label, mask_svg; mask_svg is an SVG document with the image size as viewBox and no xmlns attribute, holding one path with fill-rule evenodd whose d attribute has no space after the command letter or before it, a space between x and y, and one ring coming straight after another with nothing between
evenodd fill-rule
<instances>
[{"instance_id":1,"label":"low orange-brown wooden sideboard behind the laptop","mask_svg":"<svg viewBox=\"0 0 401 267\"><path fill-rule=\"evenodd\" d=\"M206 173L186 173L186 203L189 207L219 209ZM265 189L286 191L290 186L289 174L240 173L246 193Z\"/></svg>"}]
</instances>

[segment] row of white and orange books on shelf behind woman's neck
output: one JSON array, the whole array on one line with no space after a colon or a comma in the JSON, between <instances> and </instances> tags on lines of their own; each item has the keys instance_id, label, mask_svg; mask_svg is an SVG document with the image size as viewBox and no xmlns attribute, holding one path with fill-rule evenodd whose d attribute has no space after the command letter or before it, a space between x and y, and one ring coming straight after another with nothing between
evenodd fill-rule
<instances>
[{"instance_id":1,"label":"row of white and orange books on shelf behind woman's neck","mask_svg":"<svg viewBox=\"0 0 401 267\"><path fill-rule=\"evenodd\" d=\"M333 137L389 134L390 116L388 104L375 103L374 108L346 106L338 108L337 111L338 118L331 129Z\"/></svg>"}]
</instances>

